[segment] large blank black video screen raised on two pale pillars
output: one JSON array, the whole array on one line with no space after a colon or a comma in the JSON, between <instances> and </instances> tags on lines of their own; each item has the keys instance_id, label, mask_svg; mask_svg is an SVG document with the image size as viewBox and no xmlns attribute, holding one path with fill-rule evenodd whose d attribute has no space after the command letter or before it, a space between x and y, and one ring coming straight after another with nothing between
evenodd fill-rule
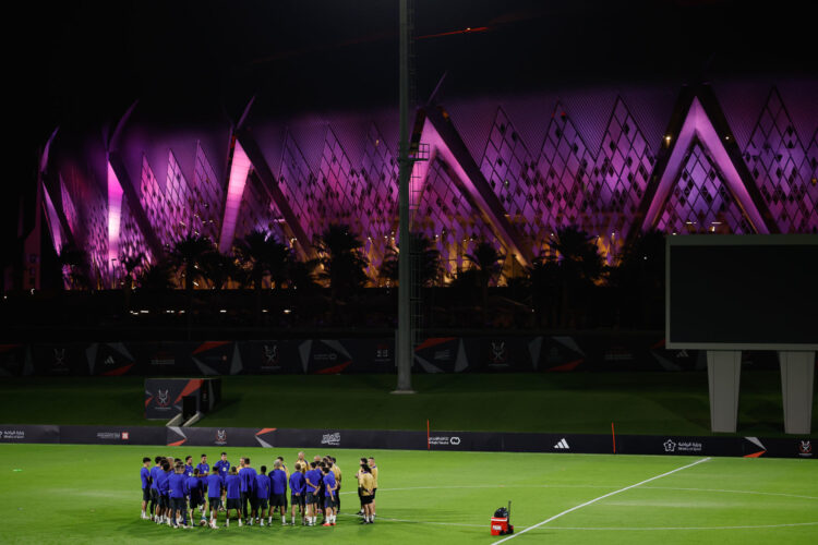
<instances>
[{"instance_id":1,"label":"large blank black video screen raised on two pale pillars","mask_svg":"<svg viewBox=\"0 0 818 545\"><path fill-rule=\"evenodd\" d=\"M667 239L671 349L818 350L818 235Z\"/></svg>"}]
</instances>

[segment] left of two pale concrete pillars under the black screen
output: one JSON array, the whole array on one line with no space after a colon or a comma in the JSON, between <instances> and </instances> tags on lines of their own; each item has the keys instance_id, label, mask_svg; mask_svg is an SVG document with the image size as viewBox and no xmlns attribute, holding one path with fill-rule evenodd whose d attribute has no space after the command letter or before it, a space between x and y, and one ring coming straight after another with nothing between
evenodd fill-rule
<instances>
[{"instance_id":1,"label":"left of two pale concrete pillars under the black screen","mask_svg":"<svg viewBox=\"0 0 818 545\"><path fill-rule=\"evenodd\" d=\"M738 384L742 376L739 350L708 350L710 429L735 433L738 421Z\"/></svg>"}]
</instances>

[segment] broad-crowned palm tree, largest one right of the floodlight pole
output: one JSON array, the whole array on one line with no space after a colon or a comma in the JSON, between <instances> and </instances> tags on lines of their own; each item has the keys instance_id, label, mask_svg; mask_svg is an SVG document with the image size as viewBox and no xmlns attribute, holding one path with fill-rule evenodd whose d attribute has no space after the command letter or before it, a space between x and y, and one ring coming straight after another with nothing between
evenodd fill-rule
<instances>
[{"instance_id":1,"label":"broad-crowned palm tree, largest one right of the floodlight pole","mask_svg":"<svg viewBox=\"0 0 818 545\"><path fill-rule=\"evenodd\" d=\"M577 226L557 229L556 237L548 244L557 254L562 284L562 323L566 326L572 317L576 317L574 314L579 298L585 299L602 278L604 262L596 238Z\"/></svg>"}]
</instances>

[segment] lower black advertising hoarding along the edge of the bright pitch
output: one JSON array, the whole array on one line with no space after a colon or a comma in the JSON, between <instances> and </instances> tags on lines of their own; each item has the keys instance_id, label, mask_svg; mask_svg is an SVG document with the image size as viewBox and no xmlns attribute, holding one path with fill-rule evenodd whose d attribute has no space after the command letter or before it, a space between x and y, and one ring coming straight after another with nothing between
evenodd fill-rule
<instances>
[{"instance_id":1,"label":"lower black advertising hoarding along the edge of the bright pitch","mask_svg":"<svg viewBox=\"0 0 818 545\"><path fill-rule=\"evenodd\" d=\"M613 453L610 435L250 427L0 425L0 443ZM816 439L622 435L617 455L816 459ZM365 453L365 452L363 452Z\"/></svg>"}]
</instances>

